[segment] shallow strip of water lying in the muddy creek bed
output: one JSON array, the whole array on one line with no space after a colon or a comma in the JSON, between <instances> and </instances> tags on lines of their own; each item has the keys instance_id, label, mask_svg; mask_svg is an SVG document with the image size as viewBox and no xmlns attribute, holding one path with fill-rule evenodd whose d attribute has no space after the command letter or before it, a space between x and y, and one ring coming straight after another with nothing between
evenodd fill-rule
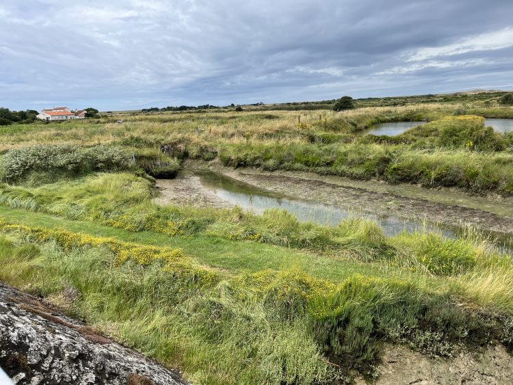
<instances>
[{"instance_id":1,"label":"shallow strip of water lying in the muddy creek bed","mask_svg":"<svg viewBox=\"0 0 513 385\"><path fill-rule=\"evenodd\" d=\"M198 172L196 174L200 176L202 186L212 191L216 196L254 213L263 213L265 209L272 208L285 209L289 213L293 213L300 222L313 222L326 226L337 226L341 220L358 215L356 212L342 209L333 204L282 196L215 172ZM422 230L427 227L428 230L440 231L447 237L456 236L453 230L430 226L421 220L416 222L401 220L397 217L377 217L365 213L361 215L376 220L383 228L385 235L395 235L403 230L412 233L415 230Z\"/></svg>"}]
</instances>

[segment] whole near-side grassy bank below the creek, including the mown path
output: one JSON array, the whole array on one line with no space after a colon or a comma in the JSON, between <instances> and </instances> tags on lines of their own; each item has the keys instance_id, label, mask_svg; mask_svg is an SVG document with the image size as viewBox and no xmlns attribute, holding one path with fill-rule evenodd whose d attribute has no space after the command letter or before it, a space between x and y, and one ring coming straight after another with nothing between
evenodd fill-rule
<instances>
[{"instance_id":1,"label":"whole near-side grassy bank below the creek, including the mown path","mask_svg":"<svg viewBox=\"0 0 513 385\"><path fill-rule=\"evenodd\" d=\"M328 228L152 194L129 173L3 185L0 280L200 383L371 379L380 341L433 357L510 346L511 258L471 229L384 237L369 220Z\"/></svg>"}]
</instances>

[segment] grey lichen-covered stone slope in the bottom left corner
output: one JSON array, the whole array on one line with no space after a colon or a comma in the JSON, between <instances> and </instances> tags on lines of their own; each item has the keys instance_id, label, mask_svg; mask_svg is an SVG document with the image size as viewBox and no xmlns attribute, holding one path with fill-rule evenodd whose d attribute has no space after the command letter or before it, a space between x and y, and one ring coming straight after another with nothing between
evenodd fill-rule
<instances>
[{"instance_id":1,"label":"grey lichen-covered stone slope in the bottom left corner","mask_svg":"<svg viewBox=\"0 0 513 385\"><path fill-rule=\"evenodd\" d=\"M0 282L0 367L14 384L187 384L44 301Z\"/></svg>"}]
</instances>

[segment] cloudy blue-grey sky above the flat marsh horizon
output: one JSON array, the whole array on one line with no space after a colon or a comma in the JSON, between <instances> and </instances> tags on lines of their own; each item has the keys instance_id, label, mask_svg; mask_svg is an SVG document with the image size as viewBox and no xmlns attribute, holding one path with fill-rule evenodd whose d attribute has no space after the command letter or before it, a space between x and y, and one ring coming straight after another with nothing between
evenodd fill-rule
<instances>
[{"instance_id":1,"label":"cloudy blue-grey sky above the flat marsh horizon","mask_svg":"<svg viewBox=\"0 0 513 385\"><path fill-rule=\"evenodd\" d=\"M512 0L1 0L0 106L513 89Z\"/></svg>"}]
</instances>

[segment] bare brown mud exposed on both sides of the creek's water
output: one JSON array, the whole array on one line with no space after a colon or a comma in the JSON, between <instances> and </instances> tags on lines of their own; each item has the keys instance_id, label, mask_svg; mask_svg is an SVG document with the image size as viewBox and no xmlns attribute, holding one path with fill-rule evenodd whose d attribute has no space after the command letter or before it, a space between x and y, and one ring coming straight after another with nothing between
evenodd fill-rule
<instances>
[{"instance_id":1,"label":"bare brown mud exposed on both sides of the creek's water","mask_svg":"<svg viewBox=\"0 0 513 385\"><path fill-rule=\"evenodd\" d=\"M185 163L185 170L211 170L267 191L334 204L347 211L404 220L425 219L432 223L458 227L473 224L501 239L513 235L511 198L475 197L461 191L431 191L416 187L384 185L378 181L346 181L345 178L317 176L312 173L265 172L252 168L232 169L217 162ZM353 184L353 185L347 185ZM200 183L199 176L185 173L176 179L159 180L158 204L186 204L195 207L233 207ZM419 190L419 191L417 191ZM393 192L395 191L394 194ZM398 194L399 192L404 192ZM431 195L430 195L431 194ZM419 198L423 196L424 198ZM429 199L428 199L429 198Z\"/></svg>"}]
</instances>

